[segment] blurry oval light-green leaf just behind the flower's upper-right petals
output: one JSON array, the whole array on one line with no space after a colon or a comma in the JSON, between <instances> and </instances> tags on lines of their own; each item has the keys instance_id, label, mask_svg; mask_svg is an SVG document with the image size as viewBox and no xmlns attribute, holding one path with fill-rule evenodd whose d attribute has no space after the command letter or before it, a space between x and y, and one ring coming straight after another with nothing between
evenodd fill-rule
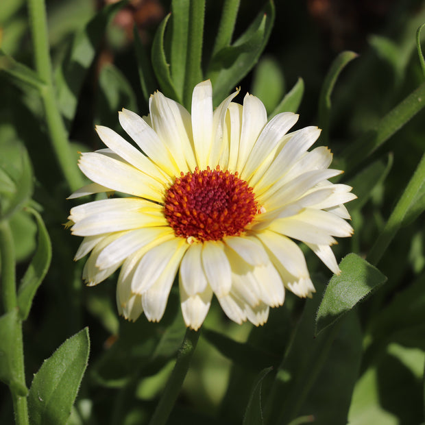
<instances>
[{"instance_id":1,"label":"blurry oval light-green leaf just behind the flower's upper-right petals","mask_svg":"<svg viewBox=\"0 0 425 425\"><path fill-rule=\"evenodd\" d=\"M284 93L284 77L277 60L266 57L258 62L251 91L263 101L267 113L276 108Z\"/></svg>"}]
</instances>

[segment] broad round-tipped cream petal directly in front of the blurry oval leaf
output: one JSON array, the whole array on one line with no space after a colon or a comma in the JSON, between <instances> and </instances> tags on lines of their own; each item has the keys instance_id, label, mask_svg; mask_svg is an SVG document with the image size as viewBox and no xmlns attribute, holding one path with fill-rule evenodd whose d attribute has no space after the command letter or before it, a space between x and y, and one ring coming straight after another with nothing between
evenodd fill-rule
<instances>
[{"instance_id":1,"label":"broad round-tipped cream petal directly in front of the blurry oval leaf","mask_svg":"<svg viewBox=\"0 0 425 425\"><path fill-rule=\"evenodd\" d=\"M239 141L236 171L241 173L252 147L267 123L267 111L263 102L248 93L243 98L241 139Z\"/></svg>"}]
</instances>

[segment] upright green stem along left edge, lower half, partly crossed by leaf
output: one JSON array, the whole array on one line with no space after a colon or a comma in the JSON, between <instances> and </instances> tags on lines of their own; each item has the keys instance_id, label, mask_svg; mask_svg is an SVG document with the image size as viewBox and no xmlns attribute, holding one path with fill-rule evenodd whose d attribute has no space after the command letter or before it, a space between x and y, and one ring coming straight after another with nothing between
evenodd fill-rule
<instances>
[{"instance_id":1,"label":"upright green stem along left edge, lower half, partly crossed by leaf","mask_svg":"<svg viewBox=\"0 0 425 425\"><path fill-rule=\"evenodd\" d=\"M13 311L17 306L15 254L12 230L8 221L0 223L0 256L1 256L1 298L5 313ZM13 376L17 383L25 383L25 368L23 363L22 321L15 327L14 359L12 361ZM12 393L15 422L17 425L29 425L27 397L22 396L22 389L10 385Z\"/></svg>"}]
</instances>

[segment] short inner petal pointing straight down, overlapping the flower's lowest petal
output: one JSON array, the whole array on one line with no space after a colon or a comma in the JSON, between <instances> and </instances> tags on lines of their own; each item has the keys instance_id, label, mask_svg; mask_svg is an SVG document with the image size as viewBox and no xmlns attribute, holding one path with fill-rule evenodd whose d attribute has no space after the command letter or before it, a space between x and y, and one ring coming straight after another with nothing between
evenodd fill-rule
<instances>
[{"instance_id":1,"label":"short inner petal pointing straight down, overlapping the flower's lowest petal","mask_svg":"<svg viewBox=\"0 0 425 425\"><path fill-rule=\"evenodd\" d=\"M188 296L204 292L208 285L201 254L202 244L193 243L184 254L180 265L180 280Z\"/></svg>"}]
</instances>

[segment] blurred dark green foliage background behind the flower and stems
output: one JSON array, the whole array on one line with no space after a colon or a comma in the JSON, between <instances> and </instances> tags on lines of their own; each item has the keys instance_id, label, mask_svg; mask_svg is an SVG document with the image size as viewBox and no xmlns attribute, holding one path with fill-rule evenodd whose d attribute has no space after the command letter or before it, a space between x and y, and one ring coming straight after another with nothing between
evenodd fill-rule
<instances>
[{"instance_id":1,"label":"blurred dark green foliage background behind the flower and stems","mask_svg":"<svg viewBox=\"0 0 425 425\"><path fill-rule=\"evenodd\" d=\"M204 72L222 6L222 1L206 1ZM234 39L261 6L241 1ZM138 71L149 64L147 52L170 8L169 1L159 0L132 0L127 5L47 1L58 109L75 154L69 161L77 161L77 151L101 148L96 123L121 132L118 110L147 114ZM289 93L292 97L287 97L286 105L300 112L298 127L317 125L319 95L332 61L341 51L358 53L332 93L326 144L338 166L339 154L424 82L415 34L425 22L425 3L276 0L275 8L274 27L258 64L234 83L241 86L239 101L250 91L273 114ZM24 0L0 2L0 40L0 69L14 69L10 57L33 66ZM178 293L171 294L160 324L143 317L132 324L117 317L116 276L95 288L84 287L82 262L72 260L80 241L62 226L73 206L65 199L71 191L49 143L42 103L34 89L37 83L29 78L23 87L11 81L0 72L1 208L7 208L10 194L17 190L26 150L34 172L32 206L42 214L53 246L51 267L23 328L27 380L62 341L88 326L89 366L69 424L145 423L184 337ZM153 81L150 84L155 86ZM417 114L343 178L354 186L359 199L348 206L355 234L335 246L337 258L348 252L366 256L383 231L424 153L424 118L423 111ZM424 191L422 187L418 195L422 204ZM343 424L347 417L350 424L424 422L421 212L420 208L411 211L380 260L378 268L387 282L316 339L314 319L330 272L310 252L306 252L307 263L317 295L306 302L289 293L284 306L273 309L262 328L231 323L213 304L169 423L186 423L190 418L192 423L239 424L245 411L258 413L258 400L265 423L302 424L313 416L318 424ZM37 224L26 210L19 210L10 226L21 277L36 249ZM266 369L270 366L271 372ZM1 385L0 391L0 423L11 424L8 389ZM263 423L255 422L255 417L245 415L244 424Z\"/></svg>"}]
</instances>

